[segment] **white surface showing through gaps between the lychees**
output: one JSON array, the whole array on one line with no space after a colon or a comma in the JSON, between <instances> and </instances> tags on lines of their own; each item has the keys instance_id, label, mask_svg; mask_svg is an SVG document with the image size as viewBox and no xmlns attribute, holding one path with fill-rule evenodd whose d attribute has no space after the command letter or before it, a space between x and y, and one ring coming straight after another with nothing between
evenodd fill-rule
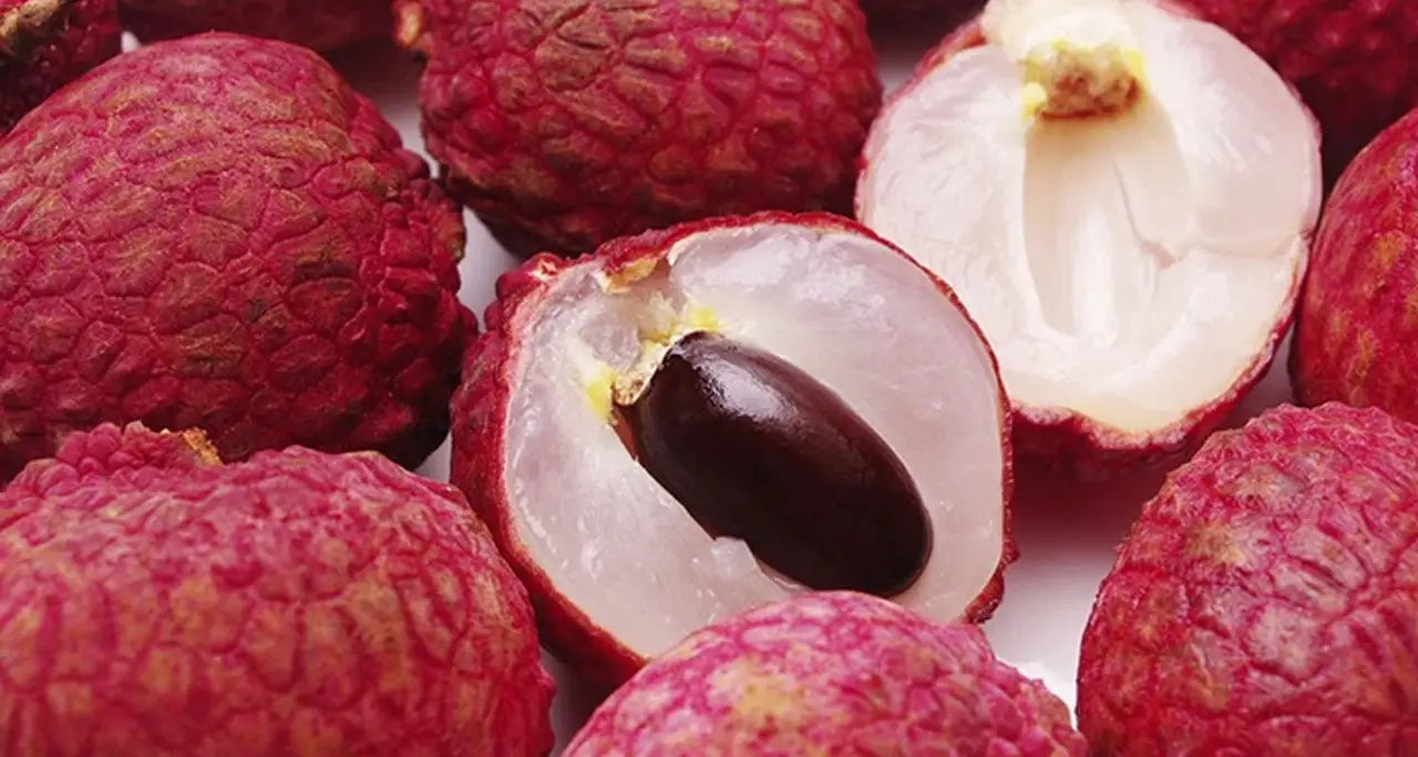
<instances>
[{"instance_id":1,"label":"white surface showing through gaps between the lychees","mask_svg":"<svg viewBox=\"0 0 1418 757\"><path fill-rule=\"evenodd\" d=\"M944 31L940 26L923 24L909 35L878 34L882 79L888 88L900 84ZM357 89L380 105L406 143L423 153L414 102L418 72L408 57L391 45L370 45L336 54L332 60ZM462 301L479 318L492 296L495 276L516 262L468 214ZM1228 425L1238 425L1258 410L1289 400L1283 360L1282 352L1271 374ZM445 445L423 472L445 481L447 466ZM1012 506L1022 557L1007 573L1004 602L986 631L1001 658L1042 679L1072 706L1078 644L1095 590L1112 564L1117 542L1141 502L1156 492L1161 473L1134 475L1107 485L1078 485L1021 465L1017 479ZM554 726L560 747L591 703L562 666L550 658L546 663L559 679Z\"/></svg>"}]
</instances>

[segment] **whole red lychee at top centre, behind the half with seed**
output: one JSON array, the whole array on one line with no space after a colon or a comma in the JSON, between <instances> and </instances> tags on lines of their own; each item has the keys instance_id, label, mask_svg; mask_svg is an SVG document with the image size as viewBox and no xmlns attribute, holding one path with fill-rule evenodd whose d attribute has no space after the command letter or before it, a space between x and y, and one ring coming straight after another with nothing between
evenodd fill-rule
<instances>
[{"instance_id":1,"label":"whole red lychee at top centre, behind the half with seed","mask_svg":"<svg viewBox=\"0 0 1418 757\"><path fill-rule=\"evenodd\" d=\"M423 133L519 254L757 210L848 213L881 105L855 0L397 0Z\"/></svg>"}]
</instances>

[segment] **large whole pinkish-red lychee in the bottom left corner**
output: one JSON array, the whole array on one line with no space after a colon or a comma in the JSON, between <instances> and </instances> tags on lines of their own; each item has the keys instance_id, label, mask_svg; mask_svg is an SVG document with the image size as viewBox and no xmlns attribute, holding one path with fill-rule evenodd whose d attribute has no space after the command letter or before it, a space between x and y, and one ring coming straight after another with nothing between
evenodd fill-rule
<instances>
[{"instance_id":1,"label":"large whole pinkish-red lychee in the bottom left corner","mask_svg":"<svg viewBox=\"0 0 1418 757\"><path fill-rule=\"evenodd\" d=\"M0 493L0 753L542 757L525 590L376 454L74 434Z\"/></svg>"}]
</instances>

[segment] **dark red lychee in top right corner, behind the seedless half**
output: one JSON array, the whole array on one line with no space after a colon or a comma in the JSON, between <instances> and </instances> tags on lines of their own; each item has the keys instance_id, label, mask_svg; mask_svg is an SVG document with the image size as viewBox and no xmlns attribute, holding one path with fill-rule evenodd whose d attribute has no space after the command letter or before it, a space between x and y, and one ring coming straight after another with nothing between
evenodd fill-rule
<instances>
[{"instance_id":1,"label":"dark red lychee in top right corner, behind the seedless half","mask_svg":"<svg viewBox=\"0 0 1418 757\"><path fill-rule=\"evenodd\" d=\"M1324 173L1418 106L1418 4L1168 0L1224 27L1288 78L1319 119Z\"/></svg>"}]
</instances>

